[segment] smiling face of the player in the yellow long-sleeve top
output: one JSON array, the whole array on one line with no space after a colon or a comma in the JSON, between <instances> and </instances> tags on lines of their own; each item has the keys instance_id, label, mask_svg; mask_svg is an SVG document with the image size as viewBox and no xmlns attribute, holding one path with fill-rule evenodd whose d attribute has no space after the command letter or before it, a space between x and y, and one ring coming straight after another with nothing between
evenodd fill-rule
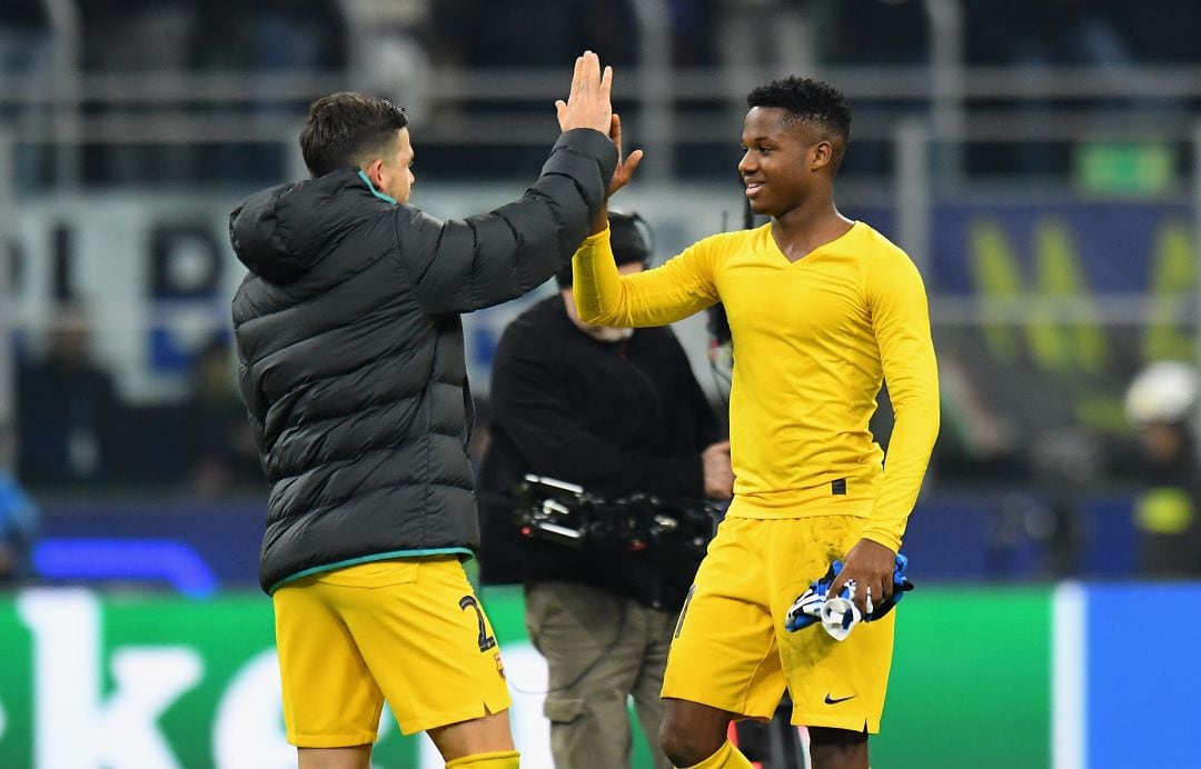
<instances>
[{"instance_id":1,"label":"smiling face of the player in the yellow long-sleeve top","mask_svg":"<svg viewBox=\"0 0 1201 769\"><path fill-rule=\"evenodd\" d=\"M803 120L779 107L752 107L742 124L739 173L751 210L781 217L832 184L835 148Z\"/></svg>"}]
</instances>

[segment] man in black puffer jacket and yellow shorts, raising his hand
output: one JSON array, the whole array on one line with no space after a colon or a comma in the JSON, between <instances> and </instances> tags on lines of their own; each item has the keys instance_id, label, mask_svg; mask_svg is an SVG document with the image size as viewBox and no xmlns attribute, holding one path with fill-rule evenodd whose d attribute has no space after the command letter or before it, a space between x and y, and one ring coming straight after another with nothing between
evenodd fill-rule
<instances>
[{"instance_id":1,"label":"man in black puffer jacket and yellow shorts, raising his hand","mask_svg":"<svg viewBox=\"0 0 1201 769\"><path fill-rule=\"evenodd\" d=\"M300 134L313 179L231 215L250 270L233 300L240 386L270 483L259 578L301 769L369 765L384 699L449 765L518 765L496 639L460 565L479 533L459 313L568 264L615 168L637 166L617 166L610 85L594 54L576 60L542 176L490 214L407 205L404 112L336 94Z\"/></svg>"}]
</instances>

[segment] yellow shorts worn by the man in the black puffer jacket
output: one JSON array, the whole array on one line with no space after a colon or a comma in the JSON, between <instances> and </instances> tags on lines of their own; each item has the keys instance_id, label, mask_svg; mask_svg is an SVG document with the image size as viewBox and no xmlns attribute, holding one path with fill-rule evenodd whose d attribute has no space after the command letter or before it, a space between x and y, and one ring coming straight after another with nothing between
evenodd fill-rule
<instances>
[{"instance_id":1,"label":"yellow shorts worn by the man in the black puffer jacket","mask_svg":"<svg viewBox=\"0 0 1201 769\"><path fill-rule=\"evenodd\" d=\"M454 555L348 566L274 595L283 721L298 747L375 743L509 707L496 636Z\"/></svg>"}]
</instances>

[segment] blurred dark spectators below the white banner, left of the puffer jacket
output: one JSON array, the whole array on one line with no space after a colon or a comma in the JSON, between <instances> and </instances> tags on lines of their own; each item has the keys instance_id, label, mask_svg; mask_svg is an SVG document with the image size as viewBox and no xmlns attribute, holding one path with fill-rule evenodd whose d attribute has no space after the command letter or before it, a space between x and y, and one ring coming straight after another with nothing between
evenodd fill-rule
<instances>
[{"instance_id":1,"label":"blurred dark spectators below the white banner, left of the puffer jacket","mask_svg":"<svg viewBox=\"0 0 1201 769\"><path fill-rule=\"evenodd\" d=\"M91 319L65 307L43 349L18 346L17 475L50 493L180 489L202 498L262 494L229 334L198 347L186 395L165 404L123 399L91 348Z\"/></svg>"}]
</instances>

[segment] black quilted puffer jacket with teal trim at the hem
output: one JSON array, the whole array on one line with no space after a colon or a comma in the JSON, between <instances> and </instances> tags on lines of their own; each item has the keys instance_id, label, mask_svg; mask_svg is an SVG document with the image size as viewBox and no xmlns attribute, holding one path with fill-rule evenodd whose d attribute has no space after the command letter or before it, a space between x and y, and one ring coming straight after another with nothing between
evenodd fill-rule
<instances>
[{"instance_id":1,"label":"black quilted puffer jacket with teal trim at the hem","mask_svg":"<svg viewBox=\"0 0 1201 769\"><path fill-rule=\"evenodd\" d=\"M616 164L602 133L555 144L514 203L440 222L357 169L274 187L229 216L250 269L233 300L239 373L271 486L259 582L479 542L459 313L567 263Z\"/></svg>"}]
</instances>

